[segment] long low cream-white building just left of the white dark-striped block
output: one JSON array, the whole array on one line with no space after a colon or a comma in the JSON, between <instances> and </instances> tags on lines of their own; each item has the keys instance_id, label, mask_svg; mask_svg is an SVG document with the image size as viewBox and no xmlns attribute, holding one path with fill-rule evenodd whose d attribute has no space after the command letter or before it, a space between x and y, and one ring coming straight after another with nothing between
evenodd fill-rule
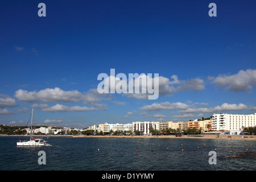
<instances>
[{"instance_id":1,"label":"long low cream-white building just left of the white dark-striped block","mask_svg":"<svg viewBox=\"0 0 256 182\"><path fill-rule=\"evenodd\" d=\"M98 131L103 131L103 133L110 131L133 131L133 124L105 123L98 125Z\"/></svg>"}]
</instances>

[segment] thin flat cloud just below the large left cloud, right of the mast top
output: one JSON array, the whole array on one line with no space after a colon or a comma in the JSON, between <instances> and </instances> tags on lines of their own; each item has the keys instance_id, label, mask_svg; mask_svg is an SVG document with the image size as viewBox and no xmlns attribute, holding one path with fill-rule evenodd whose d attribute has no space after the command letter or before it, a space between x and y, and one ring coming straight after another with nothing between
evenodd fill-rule
<instances>
[{"instance_id":1,"label":"thin flat cloud just below the large left cloud, right of the mast top","mask_svg":"<svg viewBox=\"0 0 256 182\"><path fill-rule=\"evenodd\" d=\"M96 109L95 107L86 107L86 106L68 107L60 104L56 104L54 106L42 109L42 111L47 111L47 112L89 111L89 110L98 110L98 109Z\"/></svg>"}]
</instances>

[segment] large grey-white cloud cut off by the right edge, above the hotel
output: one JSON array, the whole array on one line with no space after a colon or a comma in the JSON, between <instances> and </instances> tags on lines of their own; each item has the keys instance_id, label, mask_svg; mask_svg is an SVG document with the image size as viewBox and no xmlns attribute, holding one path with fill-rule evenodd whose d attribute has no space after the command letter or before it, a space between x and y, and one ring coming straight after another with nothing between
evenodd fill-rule
<instances>
[{"instance_id":1,"label":"large grey-white cloud cut off by the right edge, above the hotel","mask_svg":"<svg viewBox=\"0 0 256 182\"><path fill-rule=\"evenodd\" d=\"M249 92L256 85L256 69L239 71L234 75L219 75L213 79L217 87L225 87L234 92Z\"/></svg>"}]
</instances>

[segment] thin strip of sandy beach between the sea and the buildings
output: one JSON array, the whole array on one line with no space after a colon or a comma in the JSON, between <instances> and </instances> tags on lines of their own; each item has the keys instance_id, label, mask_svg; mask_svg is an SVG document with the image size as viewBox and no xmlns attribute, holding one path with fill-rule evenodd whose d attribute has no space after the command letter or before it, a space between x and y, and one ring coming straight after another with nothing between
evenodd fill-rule
<instances>
[{"instance_id":1,"label":"thin strip of sandy beach between the sea and the buildings","mask_svg":"<svg viewBox=\"0 0 256 182\"><path fill-rule=\"evenodd\" d=\"M22 135L0 135L0 137L20 137ZM256 135L32 135L33 137L66 137L66 138L176 138L176 139L229 139L229 140L256 140ZM200 137L199 137L200 136ZM24 135L30 137L30 135Z\"/></svg>"}]
</instances>

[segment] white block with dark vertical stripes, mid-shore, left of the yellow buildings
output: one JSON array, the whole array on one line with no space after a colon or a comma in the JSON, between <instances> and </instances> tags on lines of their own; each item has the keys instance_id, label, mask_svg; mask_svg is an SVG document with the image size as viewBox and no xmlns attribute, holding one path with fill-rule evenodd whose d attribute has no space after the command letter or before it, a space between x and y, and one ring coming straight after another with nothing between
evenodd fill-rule
<instances>
[{"instance_id":1,"label":"white block with dark vertical stripes, mid-shore, left of the yellow buildings","mask_svg":"<svg viewBox=\"0 0 256 182\"><path fill-rule=\"evenodd\" d=\"M149 135L150 134L150 128L156 129L156 125L159 122L150 122L150 121L137 121L133 122L133 132L135 130L141 131L143 135Z\"/></svg>"}]
</instances>

